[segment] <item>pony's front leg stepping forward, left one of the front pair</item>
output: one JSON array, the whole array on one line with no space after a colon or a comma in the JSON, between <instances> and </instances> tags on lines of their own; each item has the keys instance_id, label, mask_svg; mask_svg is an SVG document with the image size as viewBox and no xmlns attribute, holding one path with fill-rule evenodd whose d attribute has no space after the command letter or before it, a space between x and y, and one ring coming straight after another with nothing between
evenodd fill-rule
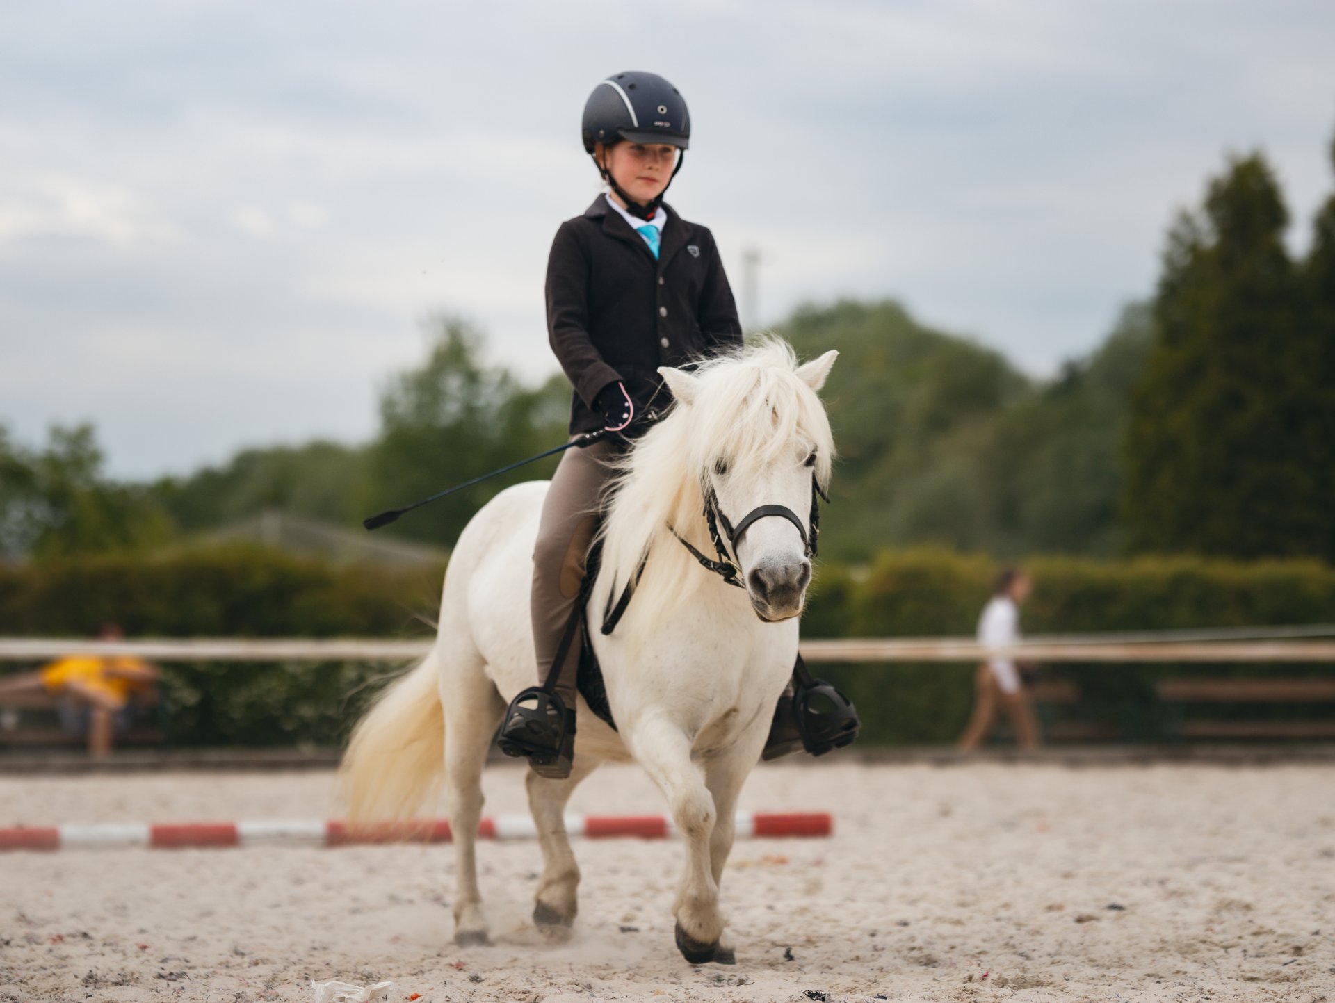
<instances>
[{"instance_id":1,"label":"pony's front leg stepping forward, left one of the front pair","mask_svg":"<svg viewBox=\"0 0 1335 1003\"><path fill-rule=\"evenodd\" d=\"M666 796L673 822L686 840L686 872L673 904L677 947L692 964L705 964L714 960L724 930L710 863L710 839L718 819L714 798L690 762L690 739L678 726L659 716L647 718L625 738Z\"/></svg>"}]
</instances>

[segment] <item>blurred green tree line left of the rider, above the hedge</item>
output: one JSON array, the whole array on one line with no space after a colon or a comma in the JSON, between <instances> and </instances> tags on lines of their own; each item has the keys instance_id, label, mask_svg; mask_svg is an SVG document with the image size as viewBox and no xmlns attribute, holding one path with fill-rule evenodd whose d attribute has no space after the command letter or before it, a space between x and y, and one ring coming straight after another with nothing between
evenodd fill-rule
<instances>
[{"instance_id":1,"label":"blurred green tree line left of the rider, above the hedge","mask_svg":"<svg viewBox=\"0 0 1335 1003\"><path fill-rule=\"evenodd\" d=\"M104 476L91 425L53 428L41 448L0 427L0 558L159 551L268 510L358 527L363 516L541 452L565 435L569 391L554 376L529 387L483 363L482 335L457 317L430 323L427 357L379 400L379 431L362 445L311 441L243 449L220 467L127 484ZM497 491L550 476L534 464L415 512L391 531L449 546Z\"/></svg>"}]
</instances>

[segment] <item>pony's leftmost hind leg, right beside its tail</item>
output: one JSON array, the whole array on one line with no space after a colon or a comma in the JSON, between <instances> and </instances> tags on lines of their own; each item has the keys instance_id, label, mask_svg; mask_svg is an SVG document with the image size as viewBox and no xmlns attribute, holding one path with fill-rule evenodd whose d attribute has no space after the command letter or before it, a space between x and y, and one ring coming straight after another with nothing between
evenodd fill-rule
<instances>
[{"instance_id":1,"label":"pony's leftmost hind leg, right beside its tail","mask_svg":"<svg viewBox=\"0 0 1335 1003\"><path fill-rule=\"evenodd\" d=\"M482 656L471 646L451 647L454 651L445 655L441 667L445 787L455 862L454 942L467 947L487 943L475 850L483 803L482 767L505 714L505 700L483 671Z\"/></svg>"}]
</instances>

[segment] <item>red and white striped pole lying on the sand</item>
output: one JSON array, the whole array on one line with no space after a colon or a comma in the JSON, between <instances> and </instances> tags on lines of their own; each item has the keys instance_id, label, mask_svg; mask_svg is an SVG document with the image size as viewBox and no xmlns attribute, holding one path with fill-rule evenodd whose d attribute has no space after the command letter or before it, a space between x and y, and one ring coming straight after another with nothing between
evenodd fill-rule
<instances>
[{"instance_id":1,"label":"red and white striped pole lying on the sand","mask_svg":"<svg viewBox=\"0 0 1335 1003\"><path fill-rule=\"evenodd\" d=\"M828 836L833 830L829 812L737 812L737 838ZM566 815L566 832L585 839L665 839L676 835L672 819L663 815ZM529 815L498 815L482 819L479 839L535 839L537 826ZM0 851L5 850L108 850L147 847L182 850L187 847L242 846L352 846L358 843L449 843L450 823L445 819L380 822L350 826L344 822L107 822L96 824L33 826L0 828Z\"/></svg>"}]
</instances>

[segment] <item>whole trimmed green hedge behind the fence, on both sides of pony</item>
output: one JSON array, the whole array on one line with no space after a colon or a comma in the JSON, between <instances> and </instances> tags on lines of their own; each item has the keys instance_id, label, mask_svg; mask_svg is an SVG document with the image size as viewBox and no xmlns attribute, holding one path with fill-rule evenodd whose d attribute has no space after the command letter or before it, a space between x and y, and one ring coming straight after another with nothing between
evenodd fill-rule
<instances>
[{"instance_id":1,"label":"whole trimmed green hedge behind the fence, on both sides of pony","mask_svg":"<svg viewBox=\"0 0 1335 1003\"><path fill-rule=\"evenodd\" d=\"M1315 562L1043 558L1027 567L1035 579L1021 614L1028 634L1335 619L1335 570ZM882 552L864 568L826 563L802 631L809 638L972 635L996 571L988 558L948 551ZM79 638L113 620L129 636L430 636L441 574L334 567L262 550L0 568L0 635ZM164 666L174 740L336 744L386 671L358 664ZM818 667L857 703L865 740L888 744L953 739L968 716L973 671L940 663ZM1044 675L1080 680L1089 700L1076 715L1105 716L1128 738L1148 738L1155 728L1151 683L1157 676L1258 671L1262 667L1113 664L1052 666ZM1236 712L1315 714L1284 707Z\"/></svg>"}]
</instances>

